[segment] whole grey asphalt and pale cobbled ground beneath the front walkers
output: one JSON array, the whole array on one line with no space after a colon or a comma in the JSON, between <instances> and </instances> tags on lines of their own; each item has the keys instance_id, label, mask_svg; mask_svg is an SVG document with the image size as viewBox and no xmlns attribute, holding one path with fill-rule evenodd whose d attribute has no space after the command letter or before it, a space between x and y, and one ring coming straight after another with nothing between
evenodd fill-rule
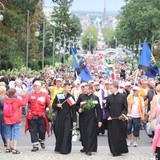
<instances>
[{"instance_id":1,"label":"whole grey asphalt and pale cobbled ground beneath the front walkers","mask_svg":"<svg viewBox=\"0 0 160 160\"><path fill-rule=\"evenodd\" d=\"M0 140L0 144L2 144ZM87 156L80 153L80 141L73 142L72 152L68 155L61 155L54 152L55 137L51 135L46 138L46 149L40 149L38 152L31 152L31 142L29 133L24 134L24 123L21 126L21 134L19 139L20 155L13 155L12 153L5 153L2 149L0 153L0 160L150 160L153 158L151 153L151 139L144 131L140 133L138 147L129 147L129 153L119 157L112 157L109 147L107 134L98 136L98 152L92 156Z\"/></svg>"}]
</instances>

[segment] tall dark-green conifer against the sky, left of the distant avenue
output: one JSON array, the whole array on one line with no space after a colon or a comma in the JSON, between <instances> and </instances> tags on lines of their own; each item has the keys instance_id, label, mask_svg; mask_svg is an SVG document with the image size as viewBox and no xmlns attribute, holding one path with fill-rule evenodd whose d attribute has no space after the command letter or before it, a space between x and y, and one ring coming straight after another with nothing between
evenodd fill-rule
<instances>
[{"instance_id":1,"label":"tall dark-green conifer against the sky, left of the distant avenue","mask_svg":"<svg viewBox=\"0 0 160 160\"><path fill-rule=\"evenodd\" d=\"M63 58L62 54L60 57L55 55L55 61L63 62L65 57L66 62L68 59L66 52L69 52L69 42L71 40L74 42L77 40L77 37L79 37L82 32L82 26L79 18L70 12L73 0L53 0L53 2L56 5L53 8L51 24L54 25L48 25L47 30L55 30L55 43L59 45L59 48L63 48L63 55L65 54ZM46 56L51 57L53 54L52 44L46 42L46 46L48 46L45 50ZM59 52L59 48L56 48L55 53Z\"/></svg>"}]
</instances>

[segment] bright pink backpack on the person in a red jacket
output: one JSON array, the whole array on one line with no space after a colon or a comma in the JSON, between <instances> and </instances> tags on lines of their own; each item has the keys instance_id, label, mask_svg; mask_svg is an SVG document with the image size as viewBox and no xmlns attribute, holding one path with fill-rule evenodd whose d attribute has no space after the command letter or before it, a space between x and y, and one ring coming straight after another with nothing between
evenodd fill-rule
<instances>
[{"instance_id":1,"label":"bright pink backpack on the person in a red jacket","mask_svg":"<svg viewBox=\"0 0 160 160\"><path fill-rule=\"evenodd\" d=\"M13 116L13 105L11 103L4 103L3 114L6 117L12 117Z\"/></svg>"}]
</instances>

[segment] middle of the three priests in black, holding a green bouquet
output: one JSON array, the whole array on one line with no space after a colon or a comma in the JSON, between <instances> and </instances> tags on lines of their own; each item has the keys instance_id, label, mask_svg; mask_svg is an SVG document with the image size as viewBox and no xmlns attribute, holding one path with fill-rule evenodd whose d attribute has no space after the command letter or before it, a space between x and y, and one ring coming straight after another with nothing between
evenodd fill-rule
<instances>
[{"instance_id":1,"label":"middle of the three priests in black, holding a green bouquet","mask_svg":"<svg viewBox=\"0 0 160 160\"><path fill-rule=\"evenodd\" d=\"M97 132L98 127L102 126L102 112L99 98L93 94L93 86L86 85L84 92L85 94L81 94L77 100L78 112L83 117L80 125L83 144L81 152L92 155L92 152L97 152ZM95 105L91 106L90 109L85 109L88 100L93 100Z\"/></svg>"}]
</instances>

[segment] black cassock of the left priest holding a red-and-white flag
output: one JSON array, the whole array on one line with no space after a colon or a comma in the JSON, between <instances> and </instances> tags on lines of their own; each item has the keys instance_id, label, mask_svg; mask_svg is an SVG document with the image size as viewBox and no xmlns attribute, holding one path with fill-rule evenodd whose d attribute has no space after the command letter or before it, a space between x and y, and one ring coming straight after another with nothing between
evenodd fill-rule
<instances>
[{"instance_id":1,"label":"black cassock of the left priest holding a red-and-white flag","mask_svg":"<svg viewBox=\"0 0 160 160\"><path fill-rule=\"evenodd\" d=\"M73 122L77 122L76 107L75 105L70 106L66 101L69 97L73 98L71 94L68 93L65 97L61 95L64 94L56 95L52 105L56 112L54 123L54 134L56 138L55 151L68 154L71 152L72 147ZM58 103L63 103L62 109L57 107Z\"/></svg>"}]
</instances>

